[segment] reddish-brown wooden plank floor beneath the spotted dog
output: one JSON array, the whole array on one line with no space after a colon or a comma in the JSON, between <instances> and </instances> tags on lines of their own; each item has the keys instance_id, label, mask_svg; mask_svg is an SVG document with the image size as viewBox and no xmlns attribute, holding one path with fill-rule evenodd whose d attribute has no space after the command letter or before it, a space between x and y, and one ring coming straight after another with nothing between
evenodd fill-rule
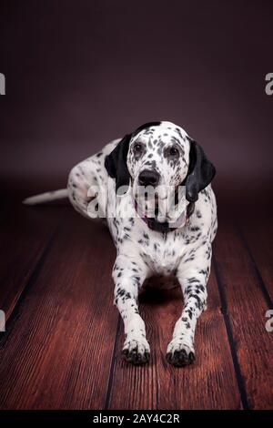
<instances>
[{"instance_id":1,"label":"reddish-brown wooden plank floor beneath the spotted dog","mask_svg":"<svg viewBox=\"0 0 273 428\"><path fill-rule=\"evenodd\" d=\"M208 308L197 324L196 363L179 369L165 358L182 308L177 288L142 295L151 362L134 367L121 359L107 229L66 205L7 206L0 225L0 309L7 318L0 408L272 409L271 219L224 218Z\"/></svg>"}]
</instances>

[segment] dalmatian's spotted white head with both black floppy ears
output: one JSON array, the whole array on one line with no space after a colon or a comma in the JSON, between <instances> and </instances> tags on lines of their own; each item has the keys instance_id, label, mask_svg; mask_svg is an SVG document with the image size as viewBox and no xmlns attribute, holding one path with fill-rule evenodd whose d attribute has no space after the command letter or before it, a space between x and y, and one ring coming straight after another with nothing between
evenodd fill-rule
<instances>
[{"instance_id":1,"label":"dalmatian's spotted white head with both black floppy ears","mask_svg":"<svg viewBox=\"0 0 273 428\"><path fill-rule=\"evenodd\" d=\"M149 122L127 134L106 157L106 170L116 178L116 192L131 183L158 189L158 200L167 199L168 189L185 186L186 204L198 199L215 176L215 168L203 149L182 127L171 122Z\"/></svg>"}]
</instances>

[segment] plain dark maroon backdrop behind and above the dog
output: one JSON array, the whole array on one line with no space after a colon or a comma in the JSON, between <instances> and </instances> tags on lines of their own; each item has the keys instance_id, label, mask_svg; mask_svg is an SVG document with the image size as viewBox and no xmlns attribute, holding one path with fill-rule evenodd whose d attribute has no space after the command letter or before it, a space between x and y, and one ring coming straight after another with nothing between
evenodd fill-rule
<instances>
[{"instance_id":1,"label":"plain dark maroon backdrop behind and above the dog","mask_svg":"<svg viewBox=\"0 0 273 428\"><path fill-rule=\"evenodd\" d=\"M205 148L227 198L267 196L272 18L269 0L2 0L3 182L65 186L76 162L165 119Z\"/></svg>"}]
</instances>

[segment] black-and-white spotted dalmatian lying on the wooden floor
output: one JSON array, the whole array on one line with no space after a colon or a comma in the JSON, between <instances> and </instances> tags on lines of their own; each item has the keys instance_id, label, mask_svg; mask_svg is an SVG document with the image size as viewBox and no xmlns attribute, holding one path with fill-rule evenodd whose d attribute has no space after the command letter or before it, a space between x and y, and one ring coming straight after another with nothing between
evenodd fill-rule
<instances>
[{"instance_id":1,"label":"black-and-white spotted dalmatian lying on the wooden floor","mask_svg":"<svg viewBox=\"0 0 273 428\"><path fill-rule=\"evenodd\" d=\"M180 367L195 361L195 329L206 309L211 245L217 232L210 186L215 172L182 127L150 122L76 165L67 189L25 199L33 205L68 197L86 218L106 218L116 244L114 303L124 321L122 353L127 362L146 363L150 356L138 311L139 290L149 277L171 274L181 287L184 309L167 346L167 362ZM94 209L89 212L92 203L96 215Z\"/></svg>"}]
</instances>

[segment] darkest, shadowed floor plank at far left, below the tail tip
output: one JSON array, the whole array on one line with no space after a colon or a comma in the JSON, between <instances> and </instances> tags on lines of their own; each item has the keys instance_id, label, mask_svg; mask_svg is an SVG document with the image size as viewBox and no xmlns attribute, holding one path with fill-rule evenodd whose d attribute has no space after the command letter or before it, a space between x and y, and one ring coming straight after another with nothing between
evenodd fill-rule
<instances>
[{"instance_id":1,"label":"darkest, shadowed floor plank at far left, below the tail tip","mask_svg":"<svg viewBox=\"0 0 273 428\"><path fill-rule=\"evenodd\" d=\"M5 208L0 228L0 309L9 319L56 231L63 209L25 207L19 199Z\"/></svg>"}]
</instances>

